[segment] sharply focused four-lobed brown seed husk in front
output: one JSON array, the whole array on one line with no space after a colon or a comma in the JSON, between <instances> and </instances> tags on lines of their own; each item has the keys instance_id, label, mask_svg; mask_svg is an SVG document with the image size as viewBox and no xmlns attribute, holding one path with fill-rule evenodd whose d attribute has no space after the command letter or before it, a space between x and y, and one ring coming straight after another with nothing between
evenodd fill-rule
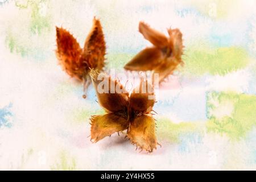
<instances>
[{"instance_id":1,"label":"sharply focused four-lobed brown seed husk in front","mask_svg":"<svg viewBox=\"0 0 256 182\"><path fill-rule=\"evenodd\" d=\"M127 137L131 143L136 144L137 148L141 150L152 152L156 148L157 142L155 121L151 114L155 103L154 90L151 84L142 80L129 97L125 88L108 75L98 74L92 70L90 76L96 89L99 104L108 113L94 115L90 118L92 141L98 142L98 140L115 132L127 130ZM111 85L114 85L114 90L110 89ZM118 88L121 88L122 93L118 92Z\"/></svg>"}]
</instances>

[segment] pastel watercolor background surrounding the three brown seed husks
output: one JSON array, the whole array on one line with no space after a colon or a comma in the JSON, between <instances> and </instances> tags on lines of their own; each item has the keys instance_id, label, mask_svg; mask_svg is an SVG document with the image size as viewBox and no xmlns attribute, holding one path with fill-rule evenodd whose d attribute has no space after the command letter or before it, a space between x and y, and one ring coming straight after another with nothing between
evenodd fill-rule
<instances>
[{"instance_id":1,"label":"pastel watercolor background surrounding the three brown seed husks","mask_svg":"<svg viewBox=\"0 0 256 182\"><path fill-rule=\"evenodd\" d=\"M256 169L256 1L0 0L0 169ZM162 148L139 153L124 135L96 144L92 86L64 73L55 26L84 43L101 19L108 69L150 46L139 20L184 35L184 67L159 91Z\"/></svg>"}]
</instances>

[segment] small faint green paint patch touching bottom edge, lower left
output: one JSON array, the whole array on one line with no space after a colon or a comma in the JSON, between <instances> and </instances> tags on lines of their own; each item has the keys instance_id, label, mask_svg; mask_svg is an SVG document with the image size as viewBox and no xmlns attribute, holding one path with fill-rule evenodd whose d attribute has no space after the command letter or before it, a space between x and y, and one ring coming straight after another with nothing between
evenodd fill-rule
<instances>
[{"instance_id":1,"label":"small faint green paint patch touching bottom edge, lower left","mask_svg":"<svg viewBox=\"0 0 256 182\"><path fill-rule=\"evenodd\" d=\"M76 160L68 152L61 151L56 164L51 166L53 171L75 171L77 170Z\"/></svg>"}]
</instances>

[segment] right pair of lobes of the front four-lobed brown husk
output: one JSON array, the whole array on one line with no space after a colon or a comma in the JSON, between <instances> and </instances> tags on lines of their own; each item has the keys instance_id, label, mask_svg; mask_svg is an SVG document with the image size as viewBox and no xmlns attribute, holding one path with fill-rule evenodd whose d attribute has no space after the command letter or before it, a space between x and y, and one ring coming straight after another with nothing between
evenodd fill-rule
<instances>
[{"instance_id":1,"label":"right pair of lobes of the front four-lobed brown husk","mask_svg":"<svg viewBox=\"0 0 256 182\"><path fill-rule=\"evenodd\" d=\"M129 99L130 126L127 136L136 147L152 152L156 149L155 121L152 108L155 104L154 88L147 80L141 80Z\"/></svg>"}]
</instances>

